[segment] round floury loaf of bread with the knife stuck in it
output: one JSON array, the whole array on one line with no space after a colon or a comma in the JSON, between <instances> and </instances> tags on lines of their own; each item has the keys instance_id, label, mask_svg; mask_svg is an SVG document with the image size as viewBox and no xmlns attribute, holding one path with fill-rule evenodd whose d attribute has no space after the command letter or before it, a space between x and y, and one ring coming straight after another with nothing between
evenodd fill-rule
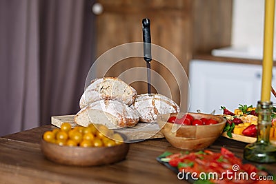
<instances>
[{"instance_id":1,"label":"round floury loaf of bread with the knife stuck in it","mask_svg":"<svg viewBox=\"0 0 276 184\"><path fill-rule=\"evenodd\" d=\"M157 115L179 112L177 103L161 94L140 94L131 107L140 114L139 121L153 123Z\"/></svg>"}]
</instances>

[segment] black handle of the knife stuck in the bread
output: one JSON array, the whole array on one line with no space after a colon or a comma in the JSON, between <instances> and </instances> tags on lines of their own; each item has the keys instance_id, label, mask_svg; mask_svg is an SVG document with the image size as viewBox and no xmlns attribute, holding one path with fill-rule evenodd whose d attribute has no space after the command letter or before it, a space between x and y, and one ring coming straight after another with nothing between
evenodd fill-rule
<instances>
[{"instance_id":1,"label":"black handle of the knife stuck in the bread","mask_svg":"<svg viewBox=\"0 0 276 184\"><path fill-rule=\"evenodd\" d=\"M151 61L150 19L143 19L144 60Z\"/></svg>"}]
</instances>

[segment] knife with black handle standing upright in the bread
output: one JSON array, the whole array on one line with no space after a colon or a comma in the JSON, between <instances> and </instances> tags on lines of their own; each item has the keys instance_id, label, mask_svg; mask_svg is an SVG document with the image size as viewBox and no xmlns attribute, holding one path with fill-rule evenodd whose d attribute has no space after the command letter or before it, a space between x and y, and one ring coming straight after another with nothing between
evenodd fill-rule
<instances>
[{"instance_id":1,"label":"knife with black handle standing upright in the bread","mask_svg":"<svg viewBox=\"0 0 276 184\"><path fill-rule=\"evenodd\" d=\"M144 42L144 60L147 65L148 94L151 94L150 87L150 61L151 61L151 38L150 38L150 19L143 19L143 42Z\"/></svg>"}]
</instances>

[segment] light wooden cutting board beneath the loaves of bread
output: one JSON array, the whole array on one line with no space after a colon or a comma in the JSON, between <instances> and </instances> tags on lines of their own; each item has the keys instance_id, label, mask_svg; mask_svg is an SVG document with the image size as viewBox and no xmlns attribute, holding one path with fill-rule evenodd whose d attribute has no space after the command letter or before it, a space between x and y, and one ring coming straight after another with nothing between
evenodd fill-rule
<instances>
[{"instance_id":1,"label":"light wooden cutting board beneath the loaves of bread","mask_svg":"<svg viewBox=\"0 0 276 184\"><path fill-rule=\"evenodd\" d=\"M61 124L68 122L72 127L77 126L74 121L75 115L64 115L64 116L52 116L51 123L57 127L61 127ZM142 141L145 139L156 139L164 138L164 135L159 131L157 123L137 123L135 127L128 127L117 129L117 132L121 132L128 137L130 141Z\"/></svg>"}]
</instances>

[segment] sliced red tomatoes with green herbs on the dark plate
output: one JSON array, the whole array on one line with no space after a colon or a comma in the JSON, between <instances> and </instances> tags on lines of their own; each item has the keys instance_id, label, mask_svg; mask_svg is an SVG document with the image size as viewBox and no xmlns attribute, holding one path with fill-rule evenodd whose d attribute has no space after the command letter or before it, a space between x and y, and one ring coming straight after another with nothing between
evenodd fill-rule
<instances>
[{"instance_id":1,"label":"sliced red tomatoes with green herbs on the dark plate","mask_svg":"<svg viewBox=\"0 0 276 184\"><path fill-rule=\"evenodd\" d=\"M264 171L260 171L251 164L243 164L242 160L237 158L233 152L230 152L225 147L221 147L221 153L212 152L210 150L204 150L205 153L201 152L190 152L188 154L175 154L173 157L174 159L170 160L170 165L173 165L173 167L178 167L179 172L185 172L185 173L192 173L195 172L196 174L200 174L201 172L209 173L209 172L217 172L218 176L222 176L222 173L226 173L229 171L229 175L233 178L233 175L235 173L239 174L240 172L247 172L248 174L256 173L255 176L256 181L243 179L237 181L236 179L228 179L228 177L224 177L223 180L219 180L219 183L258 183L257 179L259 176L266 176L267 173ZM179 164L181 163L181 164ZM192 163L192 164L190 164ZM187 165L185 165L187 164ZM240 170L237 172L233 172L233 165L237 164L240 167ZM211 181L217 182L215 179ZM266 183L266 182L260 182ZM273 181L267 182L273 183Z\"/></svg>"}]
</instances>

